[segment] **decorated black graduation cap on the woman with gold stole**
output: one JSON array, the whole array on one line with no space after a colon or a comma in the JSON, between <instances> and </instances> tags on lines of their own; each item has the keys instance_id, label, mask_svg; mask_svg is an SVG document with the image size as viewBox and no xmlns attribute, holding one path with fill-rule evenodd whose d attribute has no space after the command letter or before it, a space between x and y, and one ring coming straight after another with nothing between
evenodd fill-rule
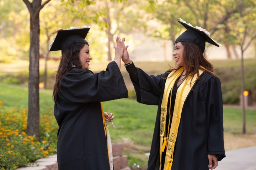
<instances>
[{"instance_id":1,"label":"decorated black graduation cap on the woman with gold stole","mask_svg":"<svg viewBox=\"0 0 256 170\"><path fill-rule=\"evenodd\" d=\"M178 22L181 23L182 26L187 30L176 39L174 44L177 42L191 42L196 44L202 52L204 52L206 42L209 42L217 47L222 46L217 41L210 38L210 33L207 30L197 26L193 27L190 23L186 23L186 21L183 21L181 18L179 19L180 21Z\"/></svg>"}]
</instances>

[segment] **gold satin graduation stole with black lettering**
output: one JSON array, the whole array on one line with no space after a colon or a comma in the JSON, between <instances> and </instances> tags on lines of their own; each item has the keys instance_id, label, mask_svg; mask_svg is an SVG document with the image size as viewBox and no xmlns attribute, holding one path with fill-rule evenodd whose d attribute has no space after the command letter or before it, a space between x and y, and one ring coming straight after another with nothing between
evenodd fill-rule
<instances>
[{"instance_id":1,"label":"gold satin graduation stole with black lettering","mask_svg":"<svg viewBox=\"0 0 256 170\"><path fill-rule=\"evenodd\" d=\"M178 87L175 104L174 104L174 113L172 116L170 133L169 133L169 128L170 128L171 115L169 116L169 125L167 127L168 132L166 134L165 128L167 126L166 115L167 115L168 97L170 92L172 95L172 88L174 87L176 80L181 75L183 70L184 68L181 67L175 73L171 72L168 75L165 83L164 95L163 95L162 104L161 104L161 118L160 118L160 168L159 168L160 170L161 170L162 152L164 152L165 149L166 149L166 155L165 155L164 169L171 170L171 166L173 162L172 158L173 158L174 146L175 146L176 137L178 134L178 126L180 124L182 108L189 92L191 91L194 83L197 80L197 74L194 75L193 77L188 76L185 79L185 81L183 81L181 85ZM201 75L202 73L203 73L203 70L199 69L199 75ZM170 103L171 103L171 96L170 96ZM170 114L170 110L171 110L171 106L169 107L169 114Z\"/></svg>"}]
</instances>

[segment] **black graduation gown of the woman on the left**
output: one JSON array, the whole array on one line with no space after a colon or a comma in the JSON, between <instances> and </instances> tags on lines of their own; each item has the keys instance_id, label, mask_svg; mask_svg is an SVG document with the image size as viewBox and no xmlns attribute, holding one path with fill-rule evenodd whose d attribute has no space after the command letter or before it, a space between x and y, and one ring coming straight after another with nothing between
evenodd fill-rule
<instances>
[{"instance_id":1,"label":"black graduation gown of the woman on the left","mask_svg":"<svg viewBox=\"0 0 256 170\"><path fill-rule=\"evenodd\" d=\"M97 74L73 69L60 90L54 106L59 170L110 170L100 102L128 97L116 62Z\"/></svg>"}]
</instances>

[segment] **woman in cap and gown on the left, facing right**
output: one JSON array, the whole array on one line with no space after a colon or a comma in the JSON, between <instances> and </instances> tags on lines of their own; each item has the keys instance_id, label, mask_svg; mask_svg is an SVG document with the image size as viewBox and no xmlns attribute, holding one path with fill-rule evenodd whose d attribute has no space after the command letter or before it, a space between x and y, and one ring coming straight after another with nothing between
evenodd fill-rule
<instances>
[{"instance_id":1,"label":"woman in cap and gown on the left, facing right","mask_svg":"<svg viewBox=\"0 0 256 170\"><path fill-rule=\"evenodd\" d=\"M116 38L114 60L105 71L94 74L88 69L92 57L85 37L89 29L58 30L49 45L49 51L62 51L53 91L59 170L113 170L106 126L113 117L104 113L101 102L128 97L120 72L124 43Z\"/></svg>"}]
</instances>

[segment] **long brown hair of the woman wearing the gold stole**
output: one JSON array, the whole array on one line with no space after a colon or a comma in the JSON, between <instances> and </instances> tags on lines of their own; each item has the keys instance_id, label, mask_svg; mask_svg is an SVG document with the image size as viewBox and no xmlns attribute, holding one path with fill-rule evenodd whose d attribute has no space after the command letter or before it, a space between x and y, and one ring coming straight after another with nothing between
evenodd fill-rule
<instances>
[{"instance_id":1,"label":"long brown hair of the woman wearing the gold stole","mask_svg":"<svg viewBox=\"0 0 256 170\"><path fill-rule=\"evenodd\" d=\"M198 79L200 79L199 75L199 69L204 70L205 72L208 72L210 74L213 74L216 76L214 73L214 68L212 63L210 63L204 56L200 48L191 43L191 42L181 42L181 44L184 46L183 50L183 60L185 62L185 70L186 70L186 77L187 78L189 75L194 76L197 74ZM177 71L180 69L181 66L178 68L174 68L169 66L169 70L167 72L172 72L172 71Z\"/></svg>"}]
</instances>

